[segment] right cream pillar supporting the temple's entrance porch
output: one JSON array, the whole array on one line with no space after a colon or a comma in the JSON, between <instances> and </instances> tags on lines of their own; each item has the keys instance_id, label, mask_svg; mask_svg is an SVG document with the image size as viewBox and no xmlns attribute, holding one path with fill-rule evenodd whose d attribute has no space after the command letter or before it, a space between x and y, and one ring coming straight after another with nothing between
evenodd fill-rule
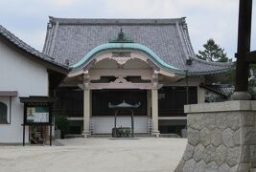
<instances>
[{"instance_id":1,"label":"right cream pillar supporting the temple's entrance porch","mask_svg":"<svg viewBox=\"0 0 256 172\"><path fill-rule=\"evenodd\" d=\"M151 116L152 116L152 135L159 137L158 130L158 90L151 90Z\"/></svg>"}]
</instances>

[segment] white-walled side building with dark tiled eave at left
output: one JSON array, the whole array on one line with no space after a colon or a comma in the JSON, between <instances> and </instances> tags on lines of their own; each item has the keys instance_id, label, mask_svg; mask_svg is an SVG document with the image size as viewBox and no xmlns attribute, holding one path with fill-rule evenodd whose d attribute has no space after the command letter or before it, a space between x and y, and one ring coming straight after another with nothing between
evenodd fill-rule
<instances>
[{"instance_id":1,"label":"white-walled side building with dark tiled eave at left","mask_svg":"<svg viewBox=\"0 0 256 172\"><path fill-rule=\"evenodd\" d=\"M48 97L67 74L66 66L35 51L0 25L0 143L23 140L24 107L19 97ZM26 126L25 142L35 130L40 131L41 139L49 138L47 127Z\"/></svg>"}]
</instances>

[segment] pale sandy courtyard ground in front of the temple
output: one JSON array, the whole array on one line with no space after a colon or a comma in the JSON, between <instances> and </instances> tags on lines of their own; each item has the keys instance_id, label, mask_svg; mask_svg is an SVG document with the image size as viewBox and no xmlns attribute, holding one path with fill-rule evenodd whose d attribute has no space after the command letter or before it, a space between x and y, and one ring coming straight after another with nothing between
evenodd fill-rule
<instances>
[{"instance_id":1,"label":"pale sandy courtyard ground in front of the temple","mask_svg":"<svg viewBox=\"0 0 256 172\"><path fill-rule=\"evenodd\" d=\"M63 146L0 146L0 172L171 172L185 139L70 139Z\"/></svg>"}]
</instances>

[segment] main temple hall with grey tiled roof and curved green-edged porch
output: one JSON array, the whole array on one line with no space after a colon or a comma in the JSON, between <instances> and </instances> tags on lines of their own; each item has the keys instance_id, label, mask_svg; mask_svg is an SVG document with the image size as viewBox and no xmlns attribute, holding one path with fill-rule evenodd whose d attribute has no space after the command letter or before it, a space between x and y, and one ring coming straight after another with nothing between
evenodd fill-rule
<instances>
[{"instance_id":1,"label":"main temple hall with grey tiled roof and curved green-edged porch","mask_svg":"<svg viewBox=\"0 0 256 172\"><path fill-rule=\"evenodd\" d=\"M232 63L200 60L185 18L76 19L50 17L43 54L69 66L55 95L55 114L71 122L70 134L110 134L114 112L108 103L140 102L137 134L182 135L183 106L203 103L203 85ZM120 112L117 126L130 126Z\"/></svg>"}]
</instances>

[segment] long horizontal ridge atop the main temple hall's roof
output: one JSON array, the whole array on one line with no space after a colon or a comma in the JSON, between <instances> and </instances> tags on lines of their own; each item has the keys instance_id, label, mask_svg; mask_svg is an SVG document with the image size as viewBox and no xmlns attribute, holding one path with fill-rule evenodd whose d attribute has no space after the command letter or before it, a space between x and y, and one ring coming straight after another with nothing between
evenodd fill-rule
<instances>
[{"instance_id":1,"label":"long horizontal ridge atop the main temple hall's roof","mask_svg":"<svg viewBox=\"0 0 256 172\"><path fill-rule=\"evenodd\" d=\"M59 18L49 16L50 23L59 24L101 24L101 25L169 25L185 23L186 17L181 18Z\"/></svg>"}]
</instances>

